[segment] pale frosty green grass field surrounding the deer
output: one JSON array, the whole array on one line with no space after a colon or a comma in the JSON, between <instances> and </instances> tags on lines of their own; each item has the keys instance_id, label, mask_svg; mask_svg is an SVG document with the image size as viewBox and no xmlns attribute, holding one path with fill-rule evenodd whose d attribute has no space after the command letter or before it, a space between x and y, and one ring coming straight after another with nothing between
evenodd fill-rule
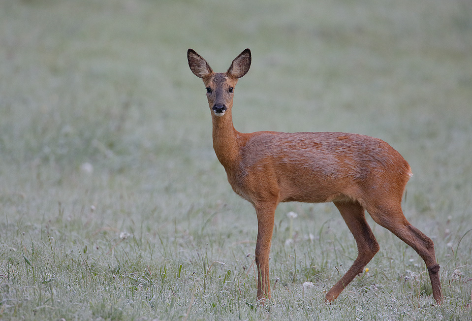
<instances>
[{"instance_id":1,"label":"pale frosty green grass field surrounding the deer","mask_svg":"<svg viewBox=\"0 0 472 321\"><path fill-rule=\"evenodd\" d=\"M235 128L362 133L409 161L441 306L370 218L380 252L324 304L357 249L302 203L276 212L257 305L256 216L186 57L224 71L247 47ZM471 320L471 159L470 0L1 0L0 320Z\"/></svg>"}]
</instances>

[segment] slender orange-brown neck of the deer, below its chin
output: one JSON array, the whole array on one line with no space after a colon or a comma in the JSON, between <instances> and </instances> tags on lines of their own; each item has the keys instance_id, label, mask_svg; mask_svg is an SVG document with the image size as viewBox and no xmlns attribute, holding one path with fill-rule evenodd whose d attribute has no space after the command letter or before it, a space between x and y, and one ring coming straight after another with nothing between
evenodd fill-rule
<instances>
[{"instance_id":1,"label":"slender orange-brown neck of the deer, below its chin","mask_svg":"<svg viewBox=\"0 0 472 321\"><path fill-rule=\"evenodd\" d=\"M213 148L225 169L233 167L239 159L240 132L234 129L231 110L223 116L212 115Z\"/></svg>"}]
</instances>

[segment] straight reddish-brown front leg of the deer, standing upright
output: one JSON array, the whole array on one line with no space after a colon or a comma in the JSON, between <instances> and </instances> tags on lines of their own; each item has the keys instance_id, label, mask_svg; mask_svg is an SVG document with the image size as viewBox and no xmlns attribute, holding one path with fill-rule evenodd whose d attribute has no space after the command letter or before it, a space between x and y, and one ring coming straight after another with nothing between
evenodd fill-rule
<instances>
[{"instance_id":1,"label":"straight reddish-brown front leg of the deer, standing upright","mask_svg":"<svg viewBox=\"0 0 472 321\"><path fill-rule=\"evenodd\" d=\"M269 252L274 230L274 215L277 204L254 205L257 214L257 241L255 263L257 266L257 300L270 298Z\"/></svg>"}]
</instances>

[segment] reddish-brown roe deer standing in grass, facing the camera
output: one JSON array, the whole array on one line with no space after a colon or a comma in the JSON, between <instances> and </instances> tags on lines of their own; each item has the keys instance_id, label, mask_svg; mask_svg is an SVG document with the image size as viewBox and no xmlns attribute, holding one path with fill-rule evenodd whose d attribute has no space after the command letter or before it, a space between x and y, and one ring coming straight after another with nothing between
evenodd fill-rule
<instances>
[{"instance_id":1,"label":"reddish-brown roe deer standing in grass, facing the camera","mask_svg":"<svg viewBox=\"0 0 472 321\"><path fill-rule=\"evenodd\" d=\"M384 141L342 132L257 131L233 127L234 87L251 65L244 50L224 73L213 72L194 50L187 52L191 71L203 79L212 113L213 148L234 192L250 201L257 214L257 299L270 297L269 251L279 202L333 202L357 243L358 256L326 294L335 300L361 273L379 246L364 210L375 222L411 246L425 261L433 297L442 301L440 266L433 241L405 218L401 200L411 169Z\"/></svg>"}]
</instances>

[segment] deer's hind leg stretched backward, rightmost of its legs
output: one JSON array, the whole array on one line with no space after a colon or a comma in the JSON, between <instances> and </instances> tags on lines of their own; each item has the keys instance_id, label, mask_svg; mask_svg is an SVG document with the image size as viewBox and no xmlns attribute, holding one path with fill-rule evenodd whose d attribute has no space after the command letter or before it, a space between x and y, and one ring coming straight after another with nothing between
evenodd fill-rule
<instances>
[{"instance_id":1,"label":"deer's hind leg stretched backward, rightmost of its legs","mask_svg":"<svg viewBox=\"0 0 472 321\"><path fill-rule=\"evenodd\" d=\"M403 214L400 203L396 206L378 206L369 211L374 221L387 228L402 241L412 247L424 260L428 268L433 287L433 297L438 304L442 301L441 282L439 279L440 266L436 261L433 241L419 229L411 225Z\"/></svg>"}]
</instances>

